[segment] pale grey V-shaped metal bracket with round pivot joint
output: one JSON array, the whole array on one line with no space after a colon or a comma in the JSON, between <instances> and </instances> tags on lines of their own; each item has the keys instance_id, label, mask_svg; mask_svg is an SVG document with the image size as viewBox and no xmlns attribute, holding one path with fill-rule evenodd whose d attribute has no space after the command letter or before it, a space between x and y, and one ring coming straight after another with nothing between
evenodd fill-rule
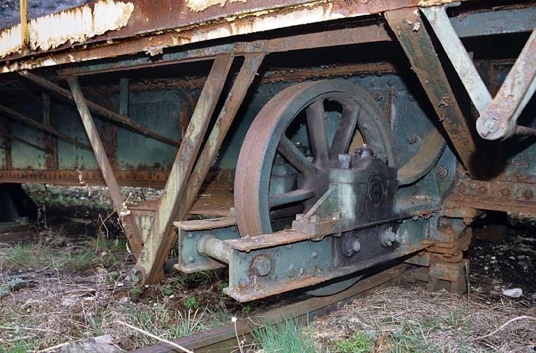
<instances>
[{"instance_id":1,"label":"pale grey V-shaped metal bracket with round pivot joint","mask_svg":"<svg viewBox=\"0 0 536 353\"><path fill-rule=\"evenodd\" d=\"M459 2L421 8L447 53L480 117L477 131L486 140L505 140L512 135L536 135L536 130L517 128L517 119L536 91L536 30L528 39L496 97L491 98L466 48L447 16L447 8Z\"/></svg>"}]
</instances>

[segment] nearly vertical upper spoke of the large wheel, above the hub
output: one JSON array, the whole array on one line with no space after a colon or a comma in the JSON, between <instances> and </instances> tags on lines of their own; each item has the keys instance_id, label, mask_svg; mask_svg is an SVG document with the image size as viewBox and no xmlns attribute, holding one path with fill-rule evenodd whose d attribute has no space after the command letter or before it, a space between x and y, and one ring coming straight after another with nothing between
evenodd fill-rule
<instances>
[{"instance_id":1,"label":"nearly vertical upper spoke of the large wheel, above the hub","mask_svg":"<svg viewBox=\"0 0 536 353\"><path fill-rule=\"evenodd\" d=\"M307 107L307 126L311 150L313 151L313 164L327 167L328 149L324 102L320 99Z\"/></svg>"}]
</instances>

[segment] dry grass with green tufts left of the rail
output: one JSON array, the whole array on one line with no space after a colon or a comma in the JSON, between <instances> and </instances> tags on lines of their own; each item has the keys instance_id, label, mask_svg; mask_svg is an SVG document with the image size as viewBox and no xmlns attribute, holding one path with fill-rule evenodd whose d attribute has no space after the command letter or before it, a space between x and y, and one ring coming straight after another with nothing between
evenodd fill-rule
<instances>
[{"instance_id":1,"label":"dry grass with green tufts left of the rail","mask_svg":"<svg viewBox=\"0 0 536 353\"><path fill-rule=\"evenodd\" d=\"M191 296L183 294L181 283L190 278L170 276L159 285L134 287L128 278L133 259L124 241L96 243L57 234L46 239L0 244L0 352L44 349L103 334L133 349L155 341L117 321L171 339L226 320L214 308L204 309L204 302L186 308Z\"/></svg>"}]
</instances>

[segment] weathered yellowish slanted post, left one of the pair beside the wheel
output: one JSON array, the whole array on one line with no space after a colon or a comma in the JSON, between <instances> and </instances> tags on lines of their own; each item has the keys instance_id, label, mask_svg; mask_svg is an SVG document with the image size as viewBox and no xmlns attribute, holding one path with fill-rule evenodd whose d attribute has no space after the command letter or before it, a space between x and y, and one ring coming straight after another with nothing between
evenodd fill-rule
<instances>
[{"instance_id":1,"label":"weathered yellowish slanted post, left one of the pair beside the wheel","mask_svg":"<svg viewBox=\"0 0 536 353\"><path fill-rule=\"evenodd\" d=\"M152 283L163 278L163 264L177 241L177 232L172 230L173 220L177 216L179 202L182 200L188 177L198 157L233 58L232 54L222 54L214 59L165 184L150 234L135 266L133 279L138 283Z\"/></svg>"}]
</instances>

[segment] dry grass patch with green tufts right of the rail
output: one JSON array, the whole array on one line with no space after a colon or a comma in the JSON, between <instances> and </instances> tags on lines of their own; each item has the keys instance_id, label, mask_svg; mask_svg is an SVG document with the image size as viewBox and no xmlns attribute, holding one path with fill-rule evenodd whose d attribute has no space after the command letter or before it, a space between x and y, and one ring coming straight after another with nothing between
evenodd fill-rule
<instances>
[{"instance_id":1,"label":"dry grass patch with green tufts right of the rail","mask_svg":"<svg viewBox=\"0 0 536 353\"><path fill-rule=\"evenodd\" d=\"M327 352L534 352L530 317L519 300L386 287L314 322L313 336Z\"/></svg>"}]
</instances>

